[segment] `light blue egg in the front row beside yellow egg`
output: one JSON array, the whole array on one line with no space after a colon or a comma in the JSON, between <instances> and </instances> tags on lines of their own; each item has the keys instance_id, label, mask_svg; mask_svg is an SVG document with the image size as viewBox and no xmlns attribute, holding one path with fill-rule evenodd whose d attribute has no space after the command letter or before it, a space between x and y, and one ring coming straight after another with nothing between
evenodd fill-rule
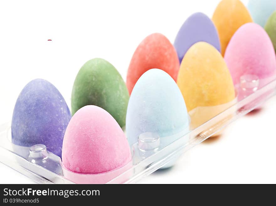
<instances>
[{"instance_id":1,"label":"light blue egg in the front row beside yellow egg","mask_svg":"<svg viewBox=\"0 0 276 206\"><path fill-rule=\"evenodd\" d=\"M127 107L129 144L135 144L140 134L154 133L164 147L186 134L188 126L187 108L175 81L160 69L145 72L135 84Z\"/></svg>"}]
</instances>

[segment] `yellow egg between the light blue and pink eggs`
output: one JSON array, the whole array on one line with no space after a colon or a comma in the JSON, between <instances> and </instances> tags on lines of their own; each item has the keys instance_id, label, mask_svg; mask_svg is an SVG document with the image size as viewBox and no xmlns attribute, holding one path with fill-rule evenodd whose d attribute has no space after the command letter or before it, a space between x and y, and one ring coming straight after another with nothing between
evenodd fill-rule
<instances>
[{"instance_id":1,"label":"yellow egg between the light blue and pink eggs","mask_svg":"<svg viewBox=\"0 0 276 206\"><path fill-rule=\"evenodd\" d=\"M185 54L178 87L195 128L235 103L231 74L220 52L206 42L194 44Z\"/></svg>"}]
</instances>

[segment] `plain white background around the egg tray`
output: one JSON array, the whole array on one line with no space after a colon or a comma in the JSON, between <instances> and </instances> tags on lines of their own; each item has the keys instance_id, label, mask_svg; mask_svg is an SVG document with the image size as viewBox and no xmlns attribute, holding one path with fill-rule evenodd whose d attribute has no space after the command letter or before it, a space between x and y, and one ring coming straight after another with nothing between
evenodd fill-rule
<instances>
[{"instance_id":1,"label":"plain white background around the egg tray","mask_svg":"<svg viewBox=\"0 0 276 206\"><path fill-rule=\"evenodd\" d=\"M1 1L0 123L11 119L16 98L30 80L47 79L68 100L79 68L94 57L111 62L125 79L132 54L147 35L160 32L173 43L189 15L211 17L218 3ZM275 100L141 183L276 183ZM31 183L2 163L0 174L0 183Z\"/></svg>"}]
</instances>

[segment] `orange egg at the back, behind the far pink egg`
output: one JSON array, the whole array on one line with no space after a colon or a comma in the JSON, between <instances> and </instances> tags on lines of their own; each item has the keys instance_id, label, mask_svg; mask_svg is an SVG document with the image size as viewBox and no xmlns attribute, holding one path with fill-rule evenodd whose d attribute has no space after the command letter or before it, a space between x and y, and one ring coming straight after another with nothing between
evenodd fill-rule
<instances>
[{"instance_id":1,"label":"orange egg at the back, behind the far pink egg","mask_svg":"<svg viewBox=\"0 0 276 206\"><path fill-rule=\"evenodd\" d=\"M241 25L252 22L247 8L240 0L222 0L215 9L212 20L219 33L222 56L236 30Z\"/></svg>"}]
</instances>

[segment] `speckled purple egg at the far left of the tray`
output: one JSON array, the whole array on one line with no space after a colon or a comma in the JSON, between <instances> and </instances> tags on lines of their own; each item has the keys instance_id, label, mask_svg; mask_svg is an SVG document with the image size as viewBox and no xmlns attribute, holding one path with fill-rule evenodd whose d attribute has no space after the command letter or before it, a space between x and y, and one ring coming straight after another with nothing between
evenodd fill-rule
<instances>
[{"instance_id":1,"label":"speckled purple egg at the far left of the tray","mask_svg":"<svg viewBox=\"0 0 276 206\"><path fill-rule=\"evenodd\" d=\"M12 118L12 143L44 144L61 157L62 141L71 119L61 93L44 79L30 81L19 94Z\"/></svg>"}]
</instances>

